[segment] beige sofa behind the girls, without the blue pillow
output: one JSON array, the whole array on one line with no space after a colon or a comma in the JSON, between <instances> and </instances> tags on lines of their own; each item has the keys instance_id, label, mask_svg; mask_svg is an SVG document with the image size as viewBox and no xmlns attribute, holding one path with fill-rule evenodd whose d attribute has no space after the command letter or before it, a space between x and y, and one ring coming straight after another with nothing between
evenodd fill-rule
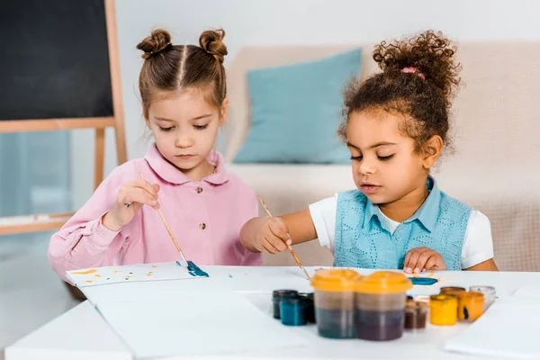
<instances>
[{"instance_id":1,"label":"beige sofa behind the girls, without the blue pillow","mask_svg":"<svg viewBox=\"0 0 540 360\"><path fill-rule=\"evenodd\" d=\"M459 43L462 86L453 106L455 154L433 175L440 188L491 220L495 261L501 270L540 271L540 44ZM247 71L325 58L359 45L265 46L239 49L227 67L229 119L224 152L229 169L260 194L275 215L355 187L348 165L235 164L250 125ZM361 46L361 78L378 71L373 45ZM264 211L261 209L261 215ZM329 266L317 241L295 246L306 266ZM267 266L293 266L284 253L264 256Z\"/></svg>"}]
</instances>

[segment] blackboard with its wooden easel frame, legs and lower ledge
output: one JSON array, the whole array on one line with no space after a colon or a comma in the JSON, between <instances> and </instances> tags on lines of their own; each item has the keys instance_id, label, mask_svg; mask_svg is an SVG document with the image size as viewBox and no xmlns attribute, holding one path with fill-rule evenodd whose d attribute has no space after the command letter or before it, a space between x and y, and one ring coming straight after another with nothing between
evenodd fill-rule
<instances>
[{"instance_id":1,"label":"blackboard with its wooden easel frame, legs and lower ledge","mask_svg":"<svg viewBox=\"0 0 540 360\"><path fill-rule=\"evenodd\" d=\"M105 129L127 161L114 0L3 0L0 133L94 129L94 188ZM58 229L73 214L0 218L0 235Z\"/></svg>"}]
</instances>

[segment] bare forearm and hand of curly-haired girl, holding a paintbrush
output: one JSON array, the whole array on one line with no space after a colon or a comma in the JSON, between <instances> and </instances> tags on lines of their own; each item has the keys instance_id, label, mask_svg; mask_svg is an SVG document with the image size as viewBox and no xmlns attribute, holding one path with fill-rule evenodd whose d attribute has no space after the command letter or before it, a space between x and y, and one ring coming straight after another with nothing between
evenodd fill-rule
<instances>
[{"instance_id":1,"label":"bare forearm and hand of curly-haired girl, holding a paintbrush","mask_svg":"<svg viewBox=\"0 0 540 360\"><path fill-rule=\"evenodd\" d=\"M240 230L240 241L247 250L276 254L287 249L285 242L300 244L317 238L309 209L282 217L254 218Z\"/></svg>"}]
</instances>

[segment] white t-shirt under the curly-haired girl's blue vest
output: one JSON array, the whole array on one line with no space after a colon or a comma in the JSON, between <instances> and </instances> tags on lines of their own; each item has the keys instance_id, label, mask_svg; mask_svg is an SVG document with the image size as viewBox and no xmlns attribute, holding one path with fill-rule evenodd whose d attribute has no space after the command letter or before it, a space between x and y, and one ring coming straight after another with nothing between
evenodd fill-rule
<instances>
[{"instance_id":1,"label":"white t-shirt under the curly-haired girl's blue vest","mask_svg":"<svg viewBox=\"0 0 540 360\"><path fill-rule=\"evenodd\" d=\"M395 231L401 222L394 221L383 214L377 206L379 219L384 222L391 232ZM310 205L311 220L317 230L320 246L328 248L332 254L336 247L336 212L338 211L338 194L334 197L315 202ZM465 232L462 249L462 268L478 265L493 257L493 240L491 224L482 212L473 210Z\"/></svg>"}]
</instances>

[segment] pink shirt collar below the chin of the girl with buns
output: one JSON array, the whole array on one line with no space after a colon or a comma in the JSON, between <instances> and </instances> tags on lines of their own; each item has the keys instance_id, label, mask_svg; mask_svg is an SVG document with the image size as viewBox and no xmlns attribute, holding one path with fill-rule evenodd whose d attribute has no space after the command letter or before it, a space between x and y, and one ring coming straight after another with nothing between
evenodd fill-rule
<instances>
[{"instance_id":1,"label":"pink shirt collar below the chin of the girl with buns","mask_svg":"<svg viewBox=\"0 0 540 360\"><path fill-rule=\"evenodd\" d=\"M185 184L193 182L192 179L166 161L165 157L157 150L156 144L152 144L152 146L148 148L144 158L148 161L148 165L152 167L154 172L169 183ZM216 167L216 171L213 174L202 178L202 181L215 185L227 183L229 181L229 174L225 168L225 163L221 154L218 151L211 150L208 157L206 157L206 160L208 160L212 166Z\"/></svg>"}]
</instances>

